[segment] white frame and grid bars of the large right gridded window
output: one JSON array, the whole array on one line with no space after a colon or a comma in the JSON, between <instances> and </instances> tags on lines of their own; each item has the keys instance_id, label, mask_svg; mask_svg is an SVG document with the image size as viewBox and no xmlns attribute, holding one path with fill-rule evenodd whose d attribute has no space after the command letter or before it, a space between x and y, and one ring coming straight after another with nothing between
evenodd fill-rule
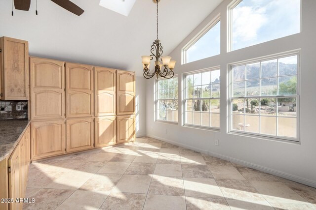
<instances>
[{"instance_id":1,"label":"white frame and grid bars of the large right gridded window","mask_svg":"<svg viewBox=\"0 0 316 210\"><path fill-rule=\"evenodd\" d=\"M297 56L297 84L296 84L296 95L265 95L265 96L241 96L241 97L233 97L233 67L234 66L239 66L239 65L247 65L247 64L251 64L251 63L256 63L256 62L264 62L267 60L274 60L274 59L282 59L285 57L290 57L290 56ZM246 136L250 136L250 137L258 137L258 138L265 138L265 139L270 139L270 140L277 140L277 141L285 141L285 142L294 142L294 143L300 143L300 74L301 74L301 50L295 50L292 52L287 52L287 53L280 53L280 54L276 54L276 55L272 55L272 56L265 56L265 57L261 57L261 58L256 58L256 59L251 59L251 60L244 60L244 61L240 61L240 62L235 62L235 63L230 63L227 65L227 69L229 70L229 74L228 74L228 81L229 81L229 88L228 88L228 133L230 134L241 134L241 135L246 135ZM293 76L293 75L290 75ZM269 77L269 78L277 78L277 94L278 94L278 88L279 88L279 82L278 82L278 78L279 77L283 77L283 76L279 76L278 75L278 65L277 65L277 76L276 77ZM260 76L259 76L259 81L260 81L260 94L261 94L261 79L266 79L266 78L261 78L261 67L260 67ZM247 81L245 79L245 81ZM276 115L275 116L268 116L268 115L261 115L260 114L260 102L259 102L259 113L258 115L249 115L245 113L245 110L242 114L240 114L241 116L243 115L244 119L245 116L258 116L259 117L259 133L252 133L252 132L247 132L247 131L238 131L238 130L234 130L232 129L232 115L233 115L233 99L247 99L247 98L254 98L254 99L262 99L262 98L276 98ZM278 103L277 103L277 99L278 98L296 98L296 138L293 137L284 137L284 136L277 136L278 133L278 118L280 118L280 116L278 116ZM237 114L235 114L237 115ZM264 117L274 117L276 118L276 135L269 135L269 134L261 134L260 133L260 116L264 116ZM281 118L293 118L293 117L286 117L286 116L281 116Z\"/></svg>"}]
</instances>

